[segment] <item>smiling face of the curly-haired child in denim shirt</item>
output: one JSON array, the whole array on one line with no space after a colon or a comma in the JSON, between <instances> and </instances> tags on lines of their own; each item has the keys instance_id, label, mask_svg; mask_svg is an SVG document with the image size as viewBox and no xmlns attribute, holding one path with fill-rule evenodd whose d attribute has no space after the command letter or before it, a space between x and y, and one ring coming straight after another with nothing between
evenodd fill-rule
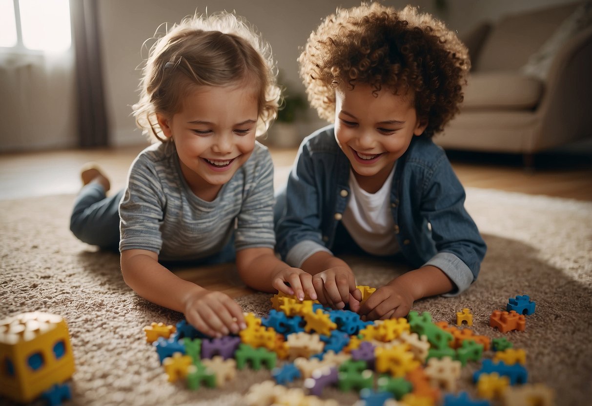
<instances>
[{"instance_id":1,"label":"smiling face of the curly-haired child in denim shirt","mask_svg":"<svg viewBox=\"0 0 592 406\"><path fill-rule=\"evenodd\" d=\"M372 92L361 83L353 90L344 86L336 90L335 138L359 185L375 193L411 138L421 135L427 124L417 120L409 95L395 95L384 88L378 96Z\"/></svg>"}]
</instances>

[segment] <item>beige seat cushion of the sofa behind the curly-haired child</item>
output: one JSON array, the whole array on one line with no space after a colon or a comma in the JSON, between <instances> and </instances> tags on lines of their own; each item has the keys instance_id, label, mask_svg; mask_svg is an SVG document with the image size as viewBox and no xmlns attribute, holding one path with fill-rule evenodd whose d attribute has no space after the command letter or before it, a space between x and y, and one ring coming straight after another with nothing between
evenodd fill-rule
<instances>
[{"instance_id":1,"label":"beige seat cushion of the sofa behind the curly-haired child","mask_svg":"<svg viewBox=\"0 0 592 406\"><path fill-rule=\"evenodd\" d=\"M462 110L525 110L538 105L543 82L516 72L475 72L469 76Z\"/></svg>"}]
</instances>

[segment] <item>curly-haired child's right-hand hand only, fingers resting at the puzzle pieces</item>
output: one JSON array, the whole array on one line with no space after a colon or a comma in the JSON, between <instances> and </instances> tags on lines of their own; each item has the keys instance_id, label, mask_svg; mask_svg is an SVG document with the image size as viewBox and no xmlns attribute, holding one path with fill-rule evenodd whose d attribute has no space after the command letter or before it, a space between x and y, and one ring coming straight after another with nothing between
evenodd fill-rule
<instances>
[{"instance_id":1,"label":"curly-haired child's right-hand hand only, fingers resting at the puzzle pieces","mask_svg":"<svg viewBox=\"0 0 592 406\"><path fill-rule=\"evenodd\" d=\"M413 305L413 296L400 285L386 285L377 289L360 307L359 315L366 320L385 320L405 317Z\"/></svg>"}]
</instances>

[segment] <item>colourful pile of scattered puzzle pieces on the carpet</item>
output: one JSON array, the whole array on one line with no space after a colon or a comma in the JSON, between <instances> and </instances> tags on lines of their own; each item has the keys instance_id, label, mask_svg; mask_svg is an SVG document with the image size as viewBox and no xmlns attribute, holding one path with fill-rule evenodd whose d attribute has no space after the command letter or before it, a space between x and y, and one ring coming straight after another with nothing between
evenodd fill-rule
<instances>
[{"instance_id":1,"label":"colourful pile of scattered puzzle pieces on the carpet","mask_svg":"<svg viewBox=\"0 0 592 406\"><path fill-rule=\"evenodd\" d=\"M375 291L358 289L363 301ZM267 317L245 314L247 328L237 336L210 339L183 320L176 327L144 327L146 339L155 346L169 381L185 379L189 389L223 386L247 366L270 370L273 381L252 385L244 396L252 406L337 405L321 398L327 386L358 391L360 406L553 404L551 389L527 384L526 353L506 337L491 340L446 321L434 323L429 312L370 322L349 310L281 293L271 301ZM506 310L494 311L490 326L503 333L524 331L525 315L533 314L535 302L517 296ZM468 308L456 313L456 325L462 324L472 326ZM493 357L482 359L490 349ZM468 362L481 362L473 375L478 399L455 394Z\"/></svg>"}]
</instances>

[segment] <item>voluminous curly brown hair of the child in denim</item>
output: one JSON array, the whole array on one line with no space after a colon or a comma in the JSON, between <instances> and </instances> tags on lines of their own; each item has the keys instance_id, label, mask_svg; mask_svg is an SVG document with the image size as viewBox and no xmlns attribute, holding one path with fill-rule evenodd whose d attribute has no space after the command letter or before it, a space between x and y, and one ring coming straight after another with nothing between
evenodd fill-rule
<instances>
[{"instance_id":1,"label":"voluminous curly brown hair of the child in denim","mask_svg":"<svg viewBox=\"0 0 592 406\"><path fill-rule=\"evenodd\" d=\"M455 33L432 15L373 3L337 9L310 34L298 57L308 101L334 121L335 89L356 83L411 90L417 117L432 137L458 112L471 63Z\"/></svg>"}]
</instances>

